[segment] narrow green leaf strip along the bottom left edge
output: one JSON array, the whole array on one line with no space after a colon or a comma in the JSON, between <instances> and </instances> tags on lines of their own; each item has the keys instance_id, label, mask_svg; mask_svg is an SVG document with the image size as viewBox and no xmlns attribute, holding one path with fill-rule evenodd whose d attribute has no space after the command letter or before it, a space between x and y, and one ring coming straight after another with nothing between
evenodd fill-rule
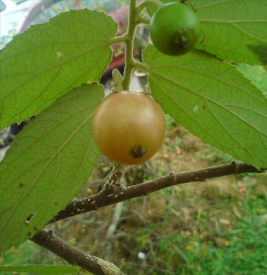
<instances>
[{"instance_id":1,"label":"narrow green leaf strip along the bottom left edge","mask_svg":"<svg viewBox=\"0 0 267 275\"><path fill-rule=\"evenodd\" d=\"M71 265L12 265L0 266L0 272L34 272L34 274L77 274L79 267Z\"/></svg>"}]
</instances>

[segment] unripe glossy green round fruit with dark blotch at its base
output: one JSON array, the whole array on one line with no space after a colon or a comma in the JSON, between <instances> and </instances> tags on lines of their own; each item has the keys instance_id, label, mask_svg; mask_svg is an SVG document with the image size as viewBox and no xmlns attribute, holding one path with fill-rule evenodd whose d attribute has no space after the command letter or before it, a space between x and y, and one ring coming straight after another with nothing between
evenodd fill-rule
<instances>
[{"instance_id":1,"label":"unripe glossy green round fruit with dark blotch at its base","mask_svg":"<svg viewBox=\"0 0 267 275\"><path fill-rule=\"evenodd\" d=\"M154 13L149 32L157 50L170 56L180 56L198 42L200 23L196 12L189 6L167 3Z\"/></svg>"}]
</instances>

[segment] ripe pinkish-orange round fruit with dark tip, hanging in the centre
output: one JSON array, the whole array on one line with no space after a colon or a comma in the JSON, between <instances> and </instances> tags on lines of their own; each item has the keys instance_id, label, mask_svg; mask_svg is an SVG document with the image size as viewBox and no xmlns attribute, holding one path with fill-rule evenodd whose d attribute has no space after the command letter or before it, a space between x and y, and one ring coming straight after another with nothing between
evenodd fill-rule
<instances>
[{"instance_id":1,"label":"ripe pinkish-orange round fruit with dark tip, hanging in the centre","mask_svg":"<svg viewBox=\"0 0 267 275\"><path fill-rule=\"evenodd\" d=\"M93 116L93 137L100 151L119 164L150 159L163 143L165 118L145 94L121 91L103 100Z\"/></svg>"}]
</instances>

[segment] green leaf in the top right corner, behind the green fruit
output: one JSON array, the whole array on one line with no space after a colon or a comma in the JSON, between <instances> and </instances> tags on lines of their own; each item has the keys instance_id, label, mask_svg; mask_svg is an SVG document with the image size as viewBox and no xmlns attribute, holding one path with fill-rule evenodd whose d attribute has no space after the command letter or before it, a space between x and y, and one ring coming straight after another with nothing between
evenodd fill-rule
<instances>
[{"instance_id":1,"label":"green leaf in the top right corner, behind the green fruit","mask_svg":"<svg viewBox=\"0 0 267 275\"><path fill-rule=\"evenodd\" d=\"M205 34L205 40L196 45L197 49L227 61L266 67L266 0L191 0L190 3L196 9ZM150 16L156 12L152 5L147 10Z\"/></svg>"}]
</instances>

